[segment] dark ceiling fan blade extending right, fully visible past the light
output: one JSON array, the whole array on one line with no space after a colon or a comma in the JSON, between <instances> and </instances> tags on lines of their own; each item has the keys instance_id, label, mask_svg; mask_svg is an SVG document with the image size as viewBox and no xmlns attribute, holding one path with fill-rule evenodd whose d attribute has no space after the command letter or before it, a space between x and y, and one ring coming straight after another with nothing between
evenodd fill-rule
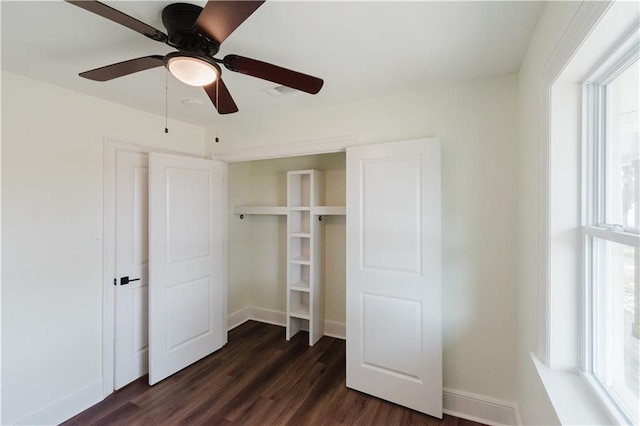
<instances>
[{"instance_id":1,"label":"dark ceiling fan blade extending right, fully visible past the light","mask_svg":"<svg viewBox=\"0 0 640 426\"><path fill-rule=\"evenodd\" d=\"M230 71L272 81L312 95L318 93L324 84L320 78L238 55L227 55L223 62Z\"/></svg>"}]
</instances>

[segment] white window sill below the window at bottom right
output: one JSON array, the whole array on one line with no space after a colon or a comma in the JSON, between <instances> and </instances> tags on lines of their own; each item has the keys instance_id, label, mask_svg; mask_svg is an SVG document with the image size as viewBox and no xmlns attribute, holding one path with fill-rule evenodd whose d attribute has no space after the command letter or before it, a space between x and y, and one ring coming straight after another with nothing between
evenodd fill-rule
<instances>
[{"instance_id":1,"label":"white window sill below the window at bottom right","mask_svg":"<svg viewBox=\"0 0 640 426\"><path fill-rule=\"evenodd\" d=\"M619 419L614 418L602 399L596 395L583 374L549 368L533 353L531 353L531 359L561 424L621 423Z\"/></svg>"}]
</instances>

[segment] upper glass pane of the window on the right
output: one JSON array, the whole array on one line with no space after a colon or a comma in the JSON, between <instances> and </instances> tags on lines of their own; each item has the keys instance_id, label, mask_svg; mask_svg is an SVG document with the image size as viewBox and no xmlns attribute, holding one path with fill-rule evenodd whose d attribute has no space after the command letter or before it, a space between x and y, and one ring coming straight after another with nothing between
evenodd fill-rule
<instances>
[{"instance_id":1,"label":"upper glass pane of the window on the right","mask_svg":"<svg viewBox=\"0 0 640 426\"><path fill-rule=\"evenodd\" d=\"M640 223L639 86L635 61L606 87L605 221L637 228Z\"/></svg>"}]
</instances>

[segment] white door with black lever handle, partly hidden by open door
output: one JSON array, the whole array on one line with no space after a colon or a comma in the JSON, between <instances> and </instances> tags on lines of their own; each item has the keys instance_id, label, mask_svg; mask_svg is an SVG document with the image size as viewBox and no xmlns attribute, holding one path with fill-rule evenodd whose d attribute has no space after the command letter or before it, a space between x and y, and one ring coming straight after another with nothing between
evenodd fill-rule
<instances>
[{"instance_id":1,"label":"white door with black lever handle, partly hidden by open door","mask_svg":"<svg viewBox=\"0 0 640 426\"><path fill-rule=\"evenodd\" d=\"M115 389L148 368L147 160L116 152Z\"/></svg>"}]
</instances>

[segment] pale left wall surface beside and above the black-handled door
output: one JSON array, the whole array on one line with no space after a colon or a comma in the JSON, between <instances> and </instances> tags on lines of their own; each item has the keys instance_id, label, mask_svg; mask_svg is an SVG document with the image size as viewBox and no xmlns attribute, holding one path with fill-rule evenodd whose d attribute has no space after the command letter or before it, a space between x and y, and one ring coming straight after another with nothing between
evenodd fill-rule
<instances>
[{"instance_id":1,"label":"pale left wall surface beside and above the black-handled door","mask_svg":"<svg viewBox=\"0 0 640 426\"><path fill-rule=\"evenodd\" d=\"M169 128L2 73L2 424L101 393L103 140L202 154L203 129Z\"/></svg>"}]
</instances>

